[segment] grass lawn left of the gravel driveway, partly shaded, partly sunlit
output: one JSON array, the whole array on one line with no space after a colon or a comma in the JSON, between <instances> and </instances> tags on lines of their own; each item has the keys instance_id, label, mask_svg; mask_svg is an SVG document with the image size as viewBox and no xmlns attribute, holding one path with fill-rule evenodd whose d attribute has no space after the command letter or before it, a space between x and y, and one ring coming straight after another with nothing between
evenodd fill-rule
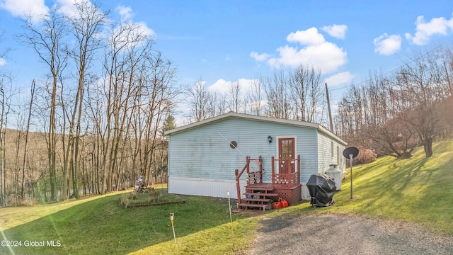
<instances>
[{"instance_id":1,"label":"grass lawn left of the gravel driveway, partly shaded, partly sunlit","mask_svg":"<svg viewBox=\"0 0 453 255\"><path fill-rule=\"evenodd\" d=\"M229 208L224 201L185 196L183 204L124 208L120 196L0 209L3 237L22 242L9 250L0 246L0 254L129 254L156 244L160 244L156 249L164 249L161 254L175 254L171 212L181 254L233 250ZM240 249L248 242L243 234L255 229L257 220L249 220L245 214L233 216L234 240ZM61 246L47 245L52 240ZM25 246L30 245L25 241L44 241L44 247Z\"/></svg>"}]
</instances>

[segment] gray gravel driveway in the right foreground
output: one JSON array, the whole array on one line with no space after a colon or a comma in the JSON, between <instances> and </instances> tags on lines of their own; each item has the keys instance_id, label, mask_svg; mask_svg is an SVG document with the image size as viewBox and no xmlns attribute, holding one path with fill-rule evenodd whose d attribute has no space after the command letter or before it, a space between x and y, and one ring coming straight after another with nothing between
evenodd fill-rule
<instances>
[{"instance_id":1,"label":"gray gravel driveway in the right foreground","mask_svg":"<svg viewBox=\"0 0 453 255\"><path fill-rule=\"evenodd\" d=\"M249 254L453 254L453 237L348 215L263 220Z\"/></svg>"}]
</instances>

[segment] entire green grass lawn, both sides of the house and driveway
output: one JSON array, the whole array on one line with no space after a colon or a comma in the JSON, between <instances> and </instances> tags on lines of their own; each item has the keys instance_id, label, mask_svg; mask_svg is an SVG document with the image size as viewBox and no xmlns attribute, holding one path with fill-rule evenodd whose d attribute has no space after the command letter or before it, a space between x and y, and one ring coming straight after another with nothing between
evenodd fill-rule
<instances>
[{"instance_id":1,"label":"entire green grass lawn, both sides of the house and driveway","mask_svg":"<svg viewBox=\"0 0 453 255\"><path fill-rule=\"evenodd\" d=\"M348 176L334 196L335 205L328 208L302 203L258 217L234 214L233 232L228 204L218 198L181 196L185 203L125 208L120 205L124 193L113 193L53 205L1 208L2 239L21 240L22 246L0 246L0 254L234 254L253 242L263 217L309 213L404 220L453 236L453 140L437 142L433 149L429 159L418 148L412 159L382 157L354 166L354 198L350 199ZM61 246L24 246L25 241L52 240Z\"/></svg>"}]
</instances>

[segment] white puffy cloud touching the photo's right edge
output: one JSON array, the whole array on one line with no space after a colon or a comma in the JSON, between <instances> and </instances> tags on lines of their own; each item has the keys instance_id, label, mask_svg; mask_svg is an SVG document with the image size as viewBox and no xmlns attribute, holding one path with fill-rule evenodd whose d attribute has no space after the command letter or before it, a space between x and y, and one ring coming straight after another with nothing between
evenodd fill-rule
<instances>
[{"instance_id":1,"label":"white puffy cloud touching the photo's right edge","mask_svg":"<svg viewBox=\"0 0 453 255\"><path fill-rule=\"evenodd\" d=\"M432 18L429 22L423 16L418 16L415 21L415 35L404 34L406 39L415 45L426 45L430 42L432 35L447 35L448 30L453 29L453 18L447 20L444 17Z\"/></svg>"}]
</instances>

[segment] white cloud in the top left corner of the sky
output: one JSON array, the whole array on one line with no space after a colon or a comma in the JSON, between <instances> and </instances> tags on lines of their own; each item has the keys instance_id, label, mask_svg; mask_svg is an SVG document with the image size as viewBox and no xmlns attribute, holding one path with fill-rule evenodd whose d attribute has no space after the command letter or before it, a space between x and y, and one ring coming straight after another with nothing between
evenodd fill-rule
<instances>
[{"instance_id":1,"label":"white cloud in the top left corner of the sky","mask_svg":"<svg viewBox=\"0 0 453 255\"><path fill-rule=\"evenodd\" d=\"M44 0L0 0L0 8L9 11L12 16L30 15L34 21L37 21L39 16L49 13Z\"/></svg>"}]
</instances>

